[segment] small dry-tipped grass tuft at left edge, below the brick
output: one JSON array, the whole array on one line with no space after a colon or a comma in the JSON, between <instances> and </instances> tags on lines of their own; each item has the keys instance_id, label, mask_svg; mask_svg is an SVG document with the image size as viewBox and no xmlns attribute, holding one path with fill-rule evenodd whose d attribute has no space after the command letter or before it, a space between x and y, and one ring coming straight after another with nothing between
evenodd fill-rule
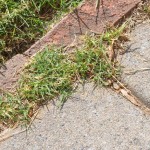
<instances>
[{"instance_id":1,"label":"small dry-tipped grass tuft at left edge, below the brick","mask_svg":"<svg viewBox=\"0 0 150 150\"><path fill-rule=\"evenodd\" d=\"M10 93L0 95L0 120L3 126L13 126L16 123L28 123L29 113L33 105L22 101L19 96Z\"/></svg>"}]
</instances>

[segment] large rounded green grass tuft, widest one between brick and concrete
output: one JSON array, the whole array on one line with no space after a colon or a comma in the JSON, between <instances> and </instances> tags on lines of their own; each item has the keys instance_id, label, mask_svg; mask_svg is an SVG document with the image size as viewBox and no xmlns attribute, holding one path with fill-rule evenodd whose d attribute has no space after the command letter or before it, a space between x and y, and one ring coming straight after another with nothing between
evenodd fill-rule
<instances>
[{"instance_id":1,"label":"large rounded green grass tuft, widest one between brick and concrete","mask_svg":"<svg viewBox=\"0 0 150 150\"><path fill-rule=\"evenodd\" d=\"M74 64L66 59L61 49L46 49L26 67L20 81L21 97L38 103L58 95L62 95L65 99L72 91L74 72Z\"/></svg>"}]
</instances>

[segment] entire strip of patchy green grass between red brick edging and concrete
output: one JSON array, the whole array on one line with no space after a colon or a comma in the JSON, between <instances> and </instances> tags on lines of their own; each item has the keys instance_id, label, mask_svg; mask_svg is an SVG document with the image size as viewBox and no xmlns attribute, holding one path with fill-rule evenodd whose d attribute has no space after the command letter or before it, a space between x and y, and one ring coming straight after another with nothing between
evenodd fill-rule
<instances>
[{"instance_id":1,"label":"entire strip of patchy green grass between red brick edging and concrete","mask_svg":"<svg viewBox=\"0 0 150 150\"><path fill-rule=\"evenodd\" d=\"M83 45L71 54L53 46L38 53L23 71L17 96L0 99L2 122L28 122L39 106L56 98L62 106L76 89L74 83L89 81L109 86L109 81L119 76L119 67L108 58L107 48L117 41L123 29L97 37L85 36Z\"/></svg>"}]
</instances>

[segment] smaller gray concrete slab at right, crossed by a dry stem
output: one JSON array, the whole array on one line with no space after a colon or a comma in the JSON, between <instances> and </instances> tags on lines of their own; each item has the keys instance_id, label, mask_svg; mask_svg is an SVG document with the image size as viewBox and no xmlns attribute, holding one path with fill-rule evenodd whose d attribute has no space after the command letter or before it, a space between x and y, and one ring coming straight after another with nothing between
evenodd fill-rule
<instances>
[{"instance_id":1,"label":"smaller gray concrete slab at right, crossed by a dry stem","mask_svg":"<svg viewBox=\"0 0 150 150\"><path fill-rule=\"evenodd\" d=\"M150 23L136 26L126 43L127 53L122 56L123 81L147 105L150 105Z\"/></svg>"}]
</instances>

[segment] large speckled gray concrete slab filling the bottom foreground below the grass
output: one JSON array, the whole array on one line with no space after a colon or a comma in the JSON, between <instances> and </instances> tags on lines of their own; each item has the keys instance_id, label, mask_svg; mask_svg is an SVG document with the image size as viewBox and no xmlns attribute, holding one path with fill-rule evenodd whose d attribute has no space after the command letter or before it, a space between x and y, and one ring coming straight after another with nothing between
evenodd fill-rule
<instances>
[{"instance_id":1,"label":"large speckled gray concrete slab filling the bottom foreground below the grass","mask_svg":"<svg viewBox=\"0 0 150 150\"><path fill-rule=\"evenodd\" d=\"M1 150L149 150L150 116L110 89L80 88L60 111L50 105L28 134Z\"/></svg>"}]
</instances>

